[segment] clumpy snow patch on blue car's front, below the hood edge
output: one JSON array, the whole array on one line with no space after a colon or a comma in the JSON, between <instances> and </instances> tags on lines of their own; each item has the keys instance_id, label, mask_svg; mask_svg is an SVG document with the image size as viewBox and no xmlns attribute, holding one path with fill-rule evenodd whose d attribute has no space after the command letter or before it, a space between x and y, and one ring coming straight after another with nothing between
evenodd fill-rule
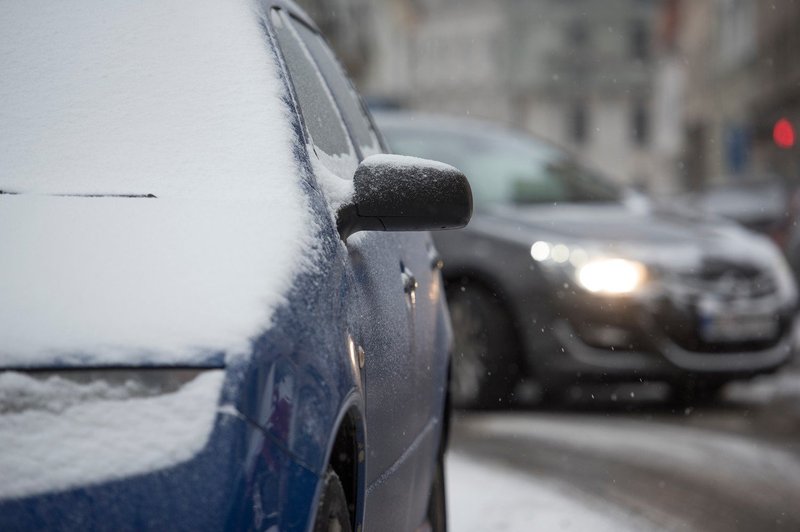
<instances>
[{"instance_id":1,"label":"clumpy snow patch on blue car's front, below the hood edge","mask_svg":"<svg viewBox=\"0 0 800 532\"><path fill-rule=\"evenodd\" d=\"M207 371L174 392L138 397L130 383L0 374L0 498L120 479L189 460L214 427L223 377L222 370ZM15 400L20 390L34 391L37 401Z\"/></svg>"}]
</instances>

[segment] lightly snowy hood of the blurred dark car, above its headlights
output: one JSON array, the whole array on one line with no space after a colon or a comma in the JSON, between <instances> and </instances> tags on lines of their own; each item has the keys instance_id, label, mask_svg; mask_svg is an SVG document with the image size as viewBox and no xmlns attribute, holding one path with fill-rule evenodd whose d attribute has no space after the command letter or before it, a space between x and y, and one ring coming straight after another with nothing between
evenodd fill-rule
<instances>
[{"instance_id":1,"label":"lightly snowy hood of the blurred dark car, above its headlights","mask_svg":"<svg viewBox=\"0 0 800 532\"><path fill-rule=\"evenodd\" d=\"M772 268L782 260L771 242L730 222L628 204L502 206L477 214L473 226L526 246L545 240L668 269L712 259Z\"/></svg>"}]
</instances>

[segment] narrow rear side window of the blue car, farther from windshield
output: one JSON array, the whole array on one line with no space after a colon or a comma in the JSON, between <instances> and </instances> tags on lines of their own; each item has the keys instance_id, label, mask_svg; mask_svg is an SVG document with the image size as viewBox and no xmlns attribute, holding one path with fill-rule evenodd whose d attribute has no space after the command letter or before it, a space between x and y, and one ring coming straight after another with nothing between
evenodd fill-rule
<instances>
[{"instance_id":1,"label":"narrow rear side window of the blue car, farther from windshield","mask_svg":"<svg viewBox=\"0 0 800 532\"><path fill-rule=\"evenodd\" d=\"M305 24L294 19L291 19L291 22L328 82L359 150L364 156L379 153L381 148L378 136L366 116L361 99L328 45L319 34L311 31Z\"/></svg>"}]
</instances>

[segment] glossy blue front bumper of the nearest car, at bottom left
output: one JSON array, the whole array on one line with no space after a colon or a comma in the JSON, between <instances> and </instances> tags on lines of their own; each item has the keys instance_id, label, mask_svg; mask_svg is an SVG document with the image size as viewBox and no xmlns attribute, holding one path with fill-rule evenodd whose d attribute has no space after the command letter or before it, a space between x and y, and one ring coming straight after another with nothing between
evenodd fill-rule
<instances>
[{"instance_id":1,"label":"glossy blue front bumper of the nearest car, at bottom left","mask_svg":"<svg viewBox=\"0 0 800 532\"><path fill-rule=\"evenodd\" d=\"M191 459L0 500L0 530L305 530L318 481L262 429L223 409Z\"/></svg>"}]
</instances>

